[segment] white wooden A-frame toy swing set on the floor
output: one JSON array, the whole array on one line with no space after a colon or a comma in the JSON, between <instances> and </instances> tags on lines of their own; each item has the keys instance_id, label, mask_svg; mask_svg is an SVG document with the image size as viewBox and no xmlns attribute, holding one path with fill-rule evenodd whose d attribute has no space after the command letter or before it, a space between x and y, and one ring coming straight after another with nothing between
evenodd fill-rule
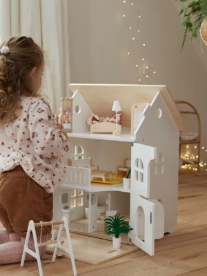
<instances>
[{"instance_id":1,"label":"white wooden A-frame toy swing set on the floor","mask_svg":"<svg viewBox=\"0 0 207 276\"><path fill-rule=\"evenodd\" d=\"M36 234L35 228L41 227L41 230L42 230L43 226L53 226L53 225L59 225L57 240L53 239L54 235L52 233L52 239L50 241L42 242L42 243L40 242L38 244L37 234ZM62 233L62 230L63 230L63 226L66 229L66 237L67 237L67 241L68 241L68 248L61 244L61 233ZM31 232L32 232L33 239L34 239L35 252L30 250L30 248L28 248L28 242L29 242L29 239L30 239L30 233ZM52 262L55 262L55 259L56 259L56 256L57 256L57 250L58 250L58 248L60 248L61 250L68 253L68 255L70 256L71 263L72 263L73 275L77 276L77 270L76 270L76 266L75 266L75 259L74 259L74 255L73 255L73 251L72 251L72 243L71 243L71 239L70 239L70 232L69 232L69 228L68 228L68 221L67 221L66 217L63 217L61 221L46 221L46 222L41 221L41 222L38 222L38 223L35 223L35 224L34 224L34 221L30 220L29 225L28 225L27 235L26 235L26 242L24 244L23 254L22 254L22 257L21 257L21 267L24 265L24 261L25 261L25 258L26 258L26 253L28 253L29 255L31 255L32 257L37 259L37 264L38 264L38 268L39 268L39 276L43 276L43 270L42 270L42 267L41 267L41 259L40 259L40 255L39 255L39 247L40 246L46 246L46 245L49 245L49 244L55 244L54 253L52 255Z\"/></svg>"}]
</instances>

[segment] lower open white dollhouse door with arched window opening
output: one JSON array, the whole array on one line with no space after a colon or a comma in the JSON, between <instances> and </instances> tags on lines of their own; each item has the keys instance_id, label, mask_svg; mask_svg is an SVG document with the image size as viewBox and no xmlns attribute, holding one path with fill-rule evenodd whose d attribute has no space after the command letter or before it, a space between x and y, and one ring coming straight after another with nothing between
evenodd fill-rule
<instances>
[{"instance_id":1,"label":"lower open white dollhouse door with arched window opening","mask_svg":"<svg viewBox=\"0 0 207 276\"><path fill-rule=\"evenodd\" d=\"M130 218L132 243L152 256L155 254L155 204L138 196L134 207L134 216Z\"/></svg>"}]
</instances>

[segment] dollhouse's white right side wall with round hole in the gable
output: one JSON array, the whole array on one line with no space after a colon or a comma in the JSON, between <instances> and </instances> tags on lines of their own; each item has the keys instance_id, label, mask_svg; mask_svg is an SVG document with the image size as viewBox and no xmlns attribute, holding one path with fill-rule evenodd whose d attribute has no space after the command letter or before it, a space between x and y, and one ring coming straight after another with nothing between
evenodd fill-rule
<instances>
[{"instance_id":1,"label":"dollhouse's white right side wall with round hole in the gable","mask_svg":"<svg viewBox=\"0 0 207 276\"><path fill-rule=\"evenodd\" d=\"M148 197L163 204L164 231L172 233L177 229L179 130L160 93L146 108L143 120L145 123L137 129L137 142L157 148L157 157L150 170Z\"/></svg>"}]
</instances>

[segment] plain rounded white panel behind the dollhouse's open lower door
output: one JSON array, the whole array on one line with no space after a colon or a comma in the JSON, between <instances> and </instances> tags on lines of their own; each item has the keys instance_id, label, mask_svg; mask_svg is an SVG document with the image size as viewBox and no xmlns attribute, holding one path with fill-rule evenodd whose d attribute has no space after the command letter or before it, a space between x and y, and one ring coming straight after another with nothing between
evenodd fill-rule
<instances>
[{"instance_id":1,"label":"plain rounded white panel behind the dollhouse's open lower door","mask_svg":"<svg viewBox=\"0 0 207 276\"><path fill-rule=\"evenodd\" d=\"M155 204L155 239L164 237L165 212L164 206L155 199L149 199Z\"/></svg>"}]
</instances>

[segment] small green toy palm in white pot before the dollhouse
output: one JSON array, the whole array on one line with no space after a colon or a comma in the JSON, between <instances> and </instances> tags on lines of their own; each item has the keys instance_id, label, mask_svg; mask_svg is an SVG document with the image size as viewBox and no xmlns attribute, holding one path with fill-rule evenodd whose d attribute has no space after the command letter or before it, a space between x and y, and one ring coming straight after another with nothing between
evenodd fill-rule
<instances>
[{"instance_id":1,"label":"small green toy palm in white pot before the dollhouse","mask_svg":"<svg viewBox=\"0 0 207 276\"><path fill-rule=\"evenodd\" d=\"M121 233L128 234L132 228L130 228L128 222L126 222L126 217L121 217L119 213L115 215L115 217L107 217L104 219L106 224L106 234L114 235L112 237L113 248L120 248L121 246L121 237L119 235Z\"/></svg>"}]
</instances>

